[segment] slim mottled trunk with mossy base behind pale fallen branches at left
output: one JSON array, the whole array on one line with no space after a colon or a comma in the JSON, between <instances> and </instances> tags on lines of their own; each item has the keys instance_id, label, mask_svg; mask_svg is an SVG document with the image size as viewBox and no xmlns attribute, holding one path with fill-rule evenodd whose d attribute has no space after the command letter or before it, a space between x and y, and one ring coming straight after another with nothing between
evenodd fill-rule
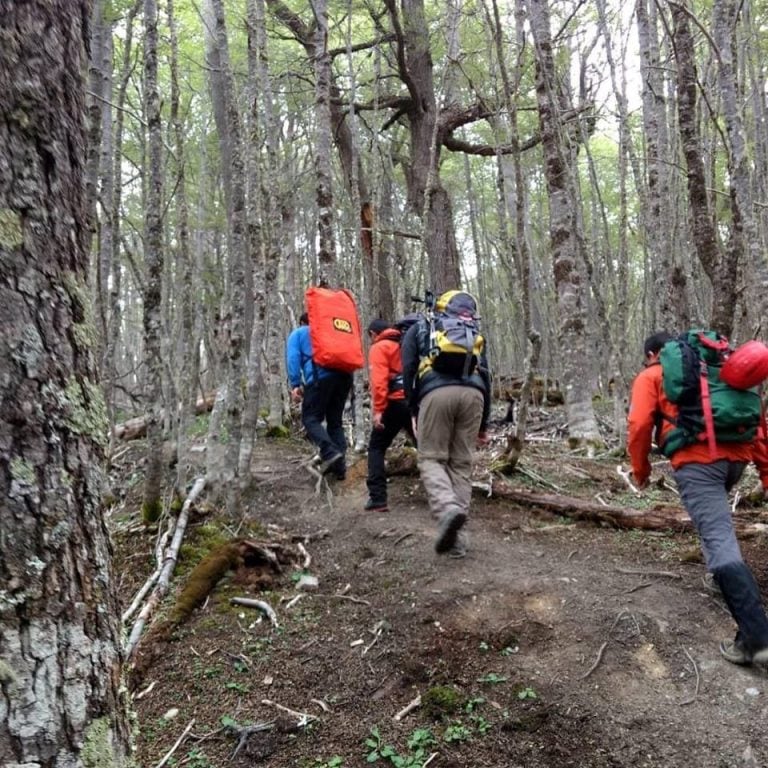
<instances>
[{"instance_id":1,"label":"slim mottled trunk with mossy base behind pale fallen branches at left","mask_svg":"<svg viewBox=\"0 0 768 768\"><path fill-rule=\"evenodd\" d=\"M147 121L148 176L144 213L144 392L148 412L147 462L143 516L155 522L163 510L163 399L162 296L163 296L163 135L160 94L157 89L157 2L144 0L144 113Z\"/></svg>"}]
</instances>

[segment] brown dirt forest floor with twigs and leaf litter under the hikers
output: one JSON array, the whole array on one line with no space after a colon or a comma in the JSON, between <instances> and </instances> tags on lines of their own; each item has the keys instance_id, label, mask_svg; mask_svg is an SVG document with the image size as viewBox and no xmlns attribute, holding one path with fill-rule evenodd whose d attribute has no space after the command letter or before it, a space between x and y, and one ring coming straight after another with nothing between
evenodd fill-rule
<instances>
[{"instance_id":1,"label":"brown dirt forest floor with twigs and leaf litter under the hikers","mask_svg":"<svg viewBox=\"0 0 768 768\"><path fill-rule=\"evenodd\" d=\"M222 535L282 542L297 560L258 579L230 572L175 631L136 685L140 765L158 765L192 721L166 765L768 765L768 675L720 657L733 624L694 535L574 523L479 492L469 554L450 559L434 552L418 476L391 478L390 511L372 515L365 458L328 485L311 454L302 440L259 441L242 524L197 506L168 605ZM137 525L140 465L124 462L111 523L127 604L156 536ZM510 482L528 490L676 499L638 500L615 458L560 440L530 444L522 464ZM768 539L742 544L765 592ZM318 585L299 591L306 574ZM234 595L269 603L277 626Z\"/></svg>"}]
</instances>

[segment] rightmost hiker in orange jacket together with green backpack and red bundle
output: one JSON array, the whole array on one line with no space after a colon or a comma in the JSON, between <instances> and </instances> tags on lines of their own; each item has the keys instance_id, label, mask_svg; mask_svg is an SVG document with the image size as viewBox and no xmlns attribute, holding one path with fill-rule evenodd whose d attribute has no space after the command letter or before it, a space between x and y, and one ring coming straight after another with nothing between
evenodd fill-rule
<instances>
[{"instance_id":1,"label":"rightmost hiker in orange jacket together with green backpack and red bundle","mask_svg":"<svg viewBox=\"0 0 768 768\"><path fill-rule=\"evenodd\" d=\"M627 450L639 488L648 485L648 454L658 445L674 469L680 498L701 539L708 571L738 631L720 643L733 664L768 664L768 617L736 539L728 493L754 461L768 489L759 385L768 348L747 342L732 351L715 331L646 339L645 368L632 384Z\"/></svg>"}]
</instances>

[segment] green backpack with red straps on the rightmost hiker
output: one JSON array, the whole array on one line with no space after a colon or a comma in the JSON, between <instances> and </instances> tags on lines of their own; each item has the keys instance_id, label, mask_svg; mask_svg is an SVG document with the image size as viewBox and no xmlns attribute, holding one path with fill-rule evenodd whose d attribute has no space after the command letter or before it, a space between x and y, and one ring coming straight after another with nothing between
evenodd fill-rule
<instances>
[{"instance_id":1,"label":"green backpack with red straps on the rightmost hiker","mask_svg":"<svg viewBox=\"0 0 768 768\"><path fill-rule=\"evenodd\" d=\"M714 456L717 443L754 440L762 420L758 387L736 389L720 378L730 354L728 339L716 331L691 330L668 341L659 355L664 394L678 406L675 424L662 453L706 441Z\"/></svg>"}]
</instances>

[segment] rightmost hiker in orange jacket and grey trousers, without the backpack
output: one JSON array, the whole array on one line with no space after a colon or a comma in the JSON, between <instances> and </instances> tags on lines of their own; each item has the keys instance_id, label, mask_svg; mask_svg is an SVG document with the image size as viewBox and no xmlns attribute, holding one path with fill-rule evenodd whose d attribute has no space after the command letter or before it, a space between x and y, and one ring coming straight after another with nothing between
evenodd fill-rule
<instances>
[{"instance_id":1,"label":"rightmost hiker in orange jacket and grey trousers, without the backpack","mask_svg":"<svg viewBox=\"0 0 768 768\"><path fill-rule=\"evenodd\" d=\"M627 450L639 488L648 485L648 454L654 441L664 445L674 428L677 406L664 395L659 353L670 340L657 333L645 341L645 369L632 384ZM741 556L731 518L728 492L744 467L754 461L768 489L768 448L762 430L752 442L721 443L710 451L705 439L677 450L670 462L686 512L698 531L707 570L725 598L738 631L720 643L720 653L733 664L768 664L768 617L760 589Z\"/></svg>"}]
</instances>

